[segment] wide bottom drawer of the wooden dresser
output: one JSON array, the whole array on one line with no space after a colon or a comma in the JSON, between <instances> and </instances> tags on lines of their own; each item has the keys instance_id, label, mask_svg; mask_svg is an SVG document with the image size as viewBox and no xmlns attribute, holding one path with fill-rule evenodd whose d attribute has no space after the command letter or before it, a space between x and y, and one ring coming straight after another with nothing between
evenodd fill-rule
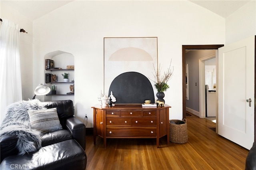
<instances>
[{"instance_id":1,"label":"wide bottom drawer of the wooden dresser","mask_svg":"<svg viewBox=\"0 0 256 170\"><path fill-rule=\"evenodd\" d=\"M156 137L156 127L109 127L107 137L150 138Z\"/></svg>"}]
</instances>

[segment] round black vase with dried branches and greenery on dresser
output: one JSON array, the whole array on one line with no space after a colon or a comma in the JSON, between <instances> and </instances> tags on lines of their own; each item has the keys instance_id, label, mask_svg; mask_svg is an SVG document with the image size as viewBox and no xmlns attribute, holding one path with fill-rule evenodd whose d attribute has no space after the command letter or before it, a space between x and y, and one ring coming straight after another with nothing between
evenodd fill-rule
<instances>
[{"instance_id":1,"label":"round black vase with dried branches and greenery on dresser","mask_svg":"<svg viewBox=\"0 0 256 170\"><path fill-rule=\"evenodd\" d=\"M167 84L167 82L172 78L173 75L173 71L174 71L174 67L171 67L172 64L172 60L170 62L170 66L168 67L167 71L165 71L163 74L161 73L162 71L162 67L159 64L159 67L157 67L157 69L154 67L154 86L156 87L158 93L156 93L156 97L158 97L157 99L157 103L159 103L160 105L163 105L165 103L164 101L164 91L166 91L167 89L169 89L169 85Z\"/></svg>"}]
</instances>

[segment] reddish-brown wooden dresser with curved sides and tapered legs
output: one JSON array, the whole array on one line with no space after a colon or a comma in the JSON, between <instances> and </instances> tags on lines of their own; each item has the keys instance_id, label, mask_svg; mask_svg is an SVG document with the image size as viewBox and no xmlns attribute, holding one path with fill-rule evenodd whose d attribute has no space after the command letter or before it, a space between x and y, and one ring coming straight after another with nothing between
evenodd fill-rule
<instances>
[{"instance_id":1,"label":"reddish-brown wooden dresser with curved sides and tapered legs","mask_svg":"<svg viewBox=\"0 0 256 170\"><path fill-rule=\"evenodd\" d=\"M93 108L94 144L96 136L106 138L159 138L167 136L169 144L169 108L142 107L141 104L116 104L112 107L96 105Z\"/></svg>"}]
</instances>

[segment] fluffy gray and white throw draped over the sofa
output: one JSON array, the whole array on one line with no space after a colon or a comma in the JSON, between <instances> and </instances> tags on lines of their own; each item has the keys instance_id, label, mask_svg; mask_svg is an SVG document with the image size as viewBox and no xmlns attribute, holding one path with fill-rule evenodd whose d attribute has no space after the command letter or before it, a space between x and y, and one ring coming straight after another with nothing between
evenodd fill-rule
<instances>
[{"instance_id":1,"label":"fluffy gray and white throw draped over the sofa","mask_svg":"<svg viewBox=\"0 0 256 170\"><path fill-rule=\"evenodd\" d=\"M46 109L38 99L20 101L8 106L6 117L0 127L0 138L17 136L16 148L20 155L40 149L41 132L30 127L28 110Z\"/></svg>"}]
</instances>

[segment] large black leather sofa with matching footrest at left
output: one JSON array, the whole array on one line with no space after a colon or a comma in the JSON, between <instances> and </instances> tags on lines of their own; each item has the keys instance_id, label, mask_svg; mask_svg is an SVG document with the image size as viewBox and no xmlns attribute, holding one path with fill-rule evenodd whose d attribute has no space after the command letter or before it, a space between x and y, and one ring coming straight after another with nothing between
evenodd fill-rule
<instances>
[{"instance_id":1,"label":"large black leather sofa with matching footrest at left","mask_svg":"<svg viewBox=\"0 0 256 170\"><path fill-rule=\"evenodd\" d=\"M43 102L48 109L57 108L62 129L42 135L42 148L18 155L17 137L5 136L0 141L0 169L86 169L84 152L85 125L74 117L71 100Z\"/></svg>"}]
</instances>

